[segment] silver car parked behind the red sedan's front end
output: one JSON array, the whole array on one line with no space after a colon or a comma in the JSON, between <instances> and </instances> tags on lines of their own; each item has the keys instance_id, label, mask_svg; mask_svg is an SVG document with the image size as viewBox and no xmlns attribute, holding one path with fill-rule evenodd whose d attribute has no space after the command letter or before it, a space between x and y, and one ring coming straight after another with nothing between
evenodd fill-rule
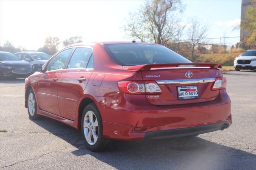
<instances>
[{"instance_id":1,"label":"silver car parked behind the red sedan's front end","mask_svg":"<svg viewBox=\"0 0 256 170\"><path fill-rule=\"evenodd\" d=\"M32 64L42 64L46 63L48 59L50 59L50 55L43 53L43 52L37 52L37 51L25 51L25 52L18 52L15 53L17 57L19 57L22 60L28 61L30 65Z\"/></svg>"}]
</instances>

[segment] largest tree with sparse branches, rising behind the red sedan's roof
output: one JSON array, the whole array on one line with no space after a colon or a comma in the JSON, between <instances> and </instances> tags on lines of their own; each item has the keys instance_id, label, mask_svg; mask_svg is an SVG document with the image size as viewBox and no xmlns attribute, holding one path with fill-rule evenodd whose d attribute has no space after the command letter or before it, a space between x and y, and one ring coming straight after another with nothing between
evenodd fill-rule
<instances>
[{"instance_id":1,"label":"largest tree with sparse branches, rising behind the red sedan's roof","mask_svg":"<svg viewBox=\"0 0 256 170\"><path fill-rule=\"evenodd\" d=\"M181 30L178 12L182 12L182 9L180 0L146 1L138 12L130 13L124 30L142 42L166 45Z\"/></svg>"}]
</instances>

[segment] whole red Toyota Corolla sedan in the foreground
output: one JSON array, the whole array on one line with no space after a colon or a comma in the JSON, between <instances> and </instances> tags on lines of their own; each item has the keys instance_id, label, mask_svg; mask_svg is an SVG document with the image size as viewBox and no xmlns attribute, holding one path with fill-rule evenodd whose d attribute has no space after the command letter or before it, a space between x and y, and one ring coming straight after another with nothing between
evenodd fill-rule
<instances>
[{"instance_id":1,"label":"whole red Toyota Corolla sedan in the foreground","mask_svg":"<svg viewBox=\"0 0 256 170\"><path fill-rule=\"evenodd\" d=\"M192 63L158 44L74 44L34 64L25 107L81 130L92 151L110 139L196 136L232 123L218 63Z\"/></svg>"}]
</instances>

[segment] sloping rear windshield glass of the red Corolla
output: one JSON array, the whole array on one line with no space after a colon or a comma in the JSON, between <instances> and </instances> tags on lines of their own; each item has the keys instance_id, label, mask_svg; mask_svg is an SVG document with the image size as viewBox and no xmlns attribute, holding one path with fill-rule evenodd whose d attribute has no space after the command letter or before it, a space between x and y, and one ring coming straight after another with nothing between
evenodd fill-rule
<instances>
[{"instance_id":1,"label":"sloping rear windshield glass of the red Corolla","mask_svg":"<svg viewBox=\"0 0 256 170\"><path fill-rule=\"evenodd\" d=\"M112 60L119 65L158 63L190 63L188 59L162 45L109 44L104 45Z\"/></svg>"}]
</instances>

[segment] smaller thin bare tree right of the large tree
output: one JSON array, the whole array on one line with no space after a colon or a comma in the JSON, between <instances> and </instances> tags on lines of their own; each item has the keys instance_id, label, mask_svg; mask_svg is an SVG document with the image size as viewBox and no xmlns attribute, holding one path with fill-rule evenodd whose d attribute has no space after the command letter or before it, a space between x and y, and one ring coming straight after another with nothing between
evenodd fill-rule
<instances>
[{"instance_id":1,"label":"smaller thin bare tree right of the large tree","mask_svg":"<svg viewBox=\"0 0 256 170\"><path fill-rule=\"evenodd\" d=\"M190 41L191 59L195 60L195 47L199 43L206 43L205 38L208 32L208 25L204 22L199 22L196 18L192 19L190 23L191 26L188 28L187 36Z\"/></svg>"}]
</instances>

